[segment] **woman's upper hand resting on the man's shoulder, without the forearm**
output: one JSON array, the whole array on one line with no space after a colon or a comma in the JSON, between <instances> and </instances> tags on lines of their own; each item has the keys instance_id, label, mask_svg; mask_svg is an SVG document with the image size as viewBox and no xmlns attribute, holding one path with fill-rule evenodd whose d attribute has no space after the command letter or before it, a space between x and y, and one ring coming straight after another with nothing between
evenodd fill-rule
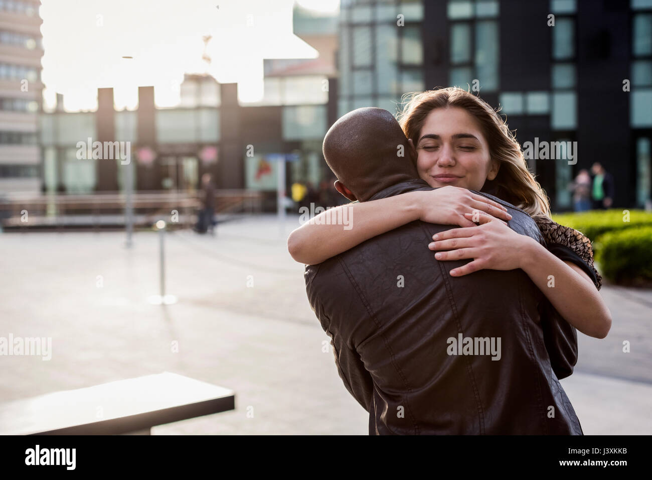
<instances>
[{"instance_id":1,"label":"woman's upper hand resting on the man's shoulder, without the forearm","mask_svg":"<svg viewBox=\"0 0 652 480\"><path fill-rule=\"evenodd\" d=\"M509 220L512 216L507 208L466 188L447 185L430 191L415 192L419 196L419 219L440 225L459 225L475 227L475 223L466 217L474 211L484 212L492 217Z\"/></svg>"}]
</instances>

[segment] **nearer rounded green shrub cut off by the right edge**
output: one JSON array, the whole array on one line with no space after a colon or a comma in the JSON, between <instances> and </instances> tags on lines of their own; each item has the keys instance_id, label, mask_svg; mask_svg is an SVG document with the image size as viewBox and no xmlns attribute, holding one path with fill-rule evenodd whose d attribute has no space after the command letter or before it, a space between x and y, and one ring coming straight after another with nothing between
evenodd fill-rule
<instances>
[{"instance_id":1,"label":"nearer rounded green shrub cut off by the right edge","mask_svg":"<svg viewBox=\"0 0 652 480\"><path fill-rule=\"evenodd\" d=\"M596 244L600 272L609 280L652 281L652 226L606 232Z\"/></svg>"}]
</instances>

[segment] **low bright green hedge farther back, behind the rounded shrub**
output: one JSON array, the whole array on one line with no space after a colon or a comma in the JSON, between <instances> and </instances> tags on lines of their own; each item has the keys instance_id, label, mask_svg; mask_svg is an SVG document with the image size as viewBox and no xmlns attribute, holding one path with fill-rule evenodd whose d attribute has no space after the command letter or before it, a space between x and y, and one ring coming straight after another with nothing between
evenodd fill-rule
<instances>
[{"instance_id":1,"label":"low bright green hedge farther back, behind the rounded shrub","mask_svg":"<svg viewBox=\"0 0 652 480\"><path fill-rule=\"evenodd\" d=\"M652 212L629 210L629 221L624 221L624 218L623 210L591 210L578 214L552 216L552 219L560 225L584 233L591 242L595 242L605 232L652 225Z\"/></svg>"}]
</instances>

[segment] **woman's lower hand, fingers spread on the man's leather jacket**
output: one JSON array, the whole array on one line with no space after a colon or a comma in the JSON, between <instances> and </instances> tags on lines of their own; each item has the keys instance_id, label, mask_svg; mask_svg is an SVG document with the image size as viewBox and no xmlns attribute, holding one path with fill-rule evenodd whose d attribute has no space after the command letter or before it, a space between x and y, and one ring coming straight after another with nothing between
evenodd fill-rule
<instances>
[{"instance_id":1,"label":"woman's lower hand, fingers spread on the man's leather jacket","mask_svg":"<svg viewBox=\"0 0 652 480\"><path fill-rule=\"evenodd\" d=\"M459 268L451 270L455 277L477 272L483 268L490 270L514 270L521 268L522 259L527 255L532 238L514 232L507 223L496 217L475 212L464 214L469 221L479 221L481 225L462 229L451 229L432 236L435 240L428 245L437 252L437 260L474 259Z\"/></svg>"}]
</instances>

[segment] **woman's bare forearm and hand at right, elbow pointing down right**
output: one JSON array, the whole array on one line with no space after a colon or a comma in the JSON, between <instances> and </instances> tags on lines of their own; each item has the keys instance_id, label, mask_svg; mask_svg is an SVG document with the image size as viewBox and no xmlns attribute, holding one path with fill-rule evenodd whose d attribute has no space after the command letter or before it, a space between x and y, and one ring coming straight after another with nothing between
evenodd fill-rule
<instances>
[{"instance_id":1,"label":"woman's bare forearm and hand at right, elbow pointing down right","mask_svg":"<svg viewBox=\"0 0 652 480\"><path fill-rule=\"evenodd\" d=\"M607 336L611 313L593 281L579 266L561 261L533 238L488 216L481 214L481 223L479 227L453 229L433 236L436 241L430 249L449 250L436 253L438 260L474 259L451 270L452 276L482 268L521 268L573 327L595 338Z\"/></svg>"}]
</instances>

